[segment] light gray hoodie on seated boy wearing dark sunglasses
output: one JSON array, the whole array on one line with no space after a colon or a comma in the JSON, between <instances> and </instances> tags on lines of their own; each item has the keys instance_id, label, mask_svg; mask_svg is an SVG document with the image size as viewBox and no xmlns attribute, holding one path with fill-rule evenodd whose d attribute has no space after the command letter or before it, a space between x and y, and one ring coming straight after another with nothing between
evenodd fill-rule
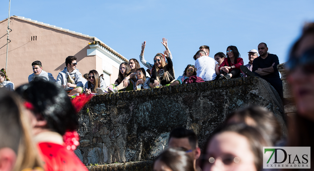
<instances>
[{"instance_id":1,"label":"light gray hoodie on seated boy wearing dark sunglasses","mask_svg":"<svg viewBox=\"0 0 314 171\"><path fill-rule=\"evenodd\" d=\"M78 69L75 69L71 73L68 72L67 67L64 67L63 71L59 72L59 75L57 77L57 84L58 85L66 85L67 83L71 83L71 80L73 80L73 84L76 84L77 87L83 88L83 83L86 82L86 79L82 77L81 72L78 72ZM85 80L85 81L84 81ZM66 91L71 91L74 88L67 87Z\"/></svg>"}]
</instances>

